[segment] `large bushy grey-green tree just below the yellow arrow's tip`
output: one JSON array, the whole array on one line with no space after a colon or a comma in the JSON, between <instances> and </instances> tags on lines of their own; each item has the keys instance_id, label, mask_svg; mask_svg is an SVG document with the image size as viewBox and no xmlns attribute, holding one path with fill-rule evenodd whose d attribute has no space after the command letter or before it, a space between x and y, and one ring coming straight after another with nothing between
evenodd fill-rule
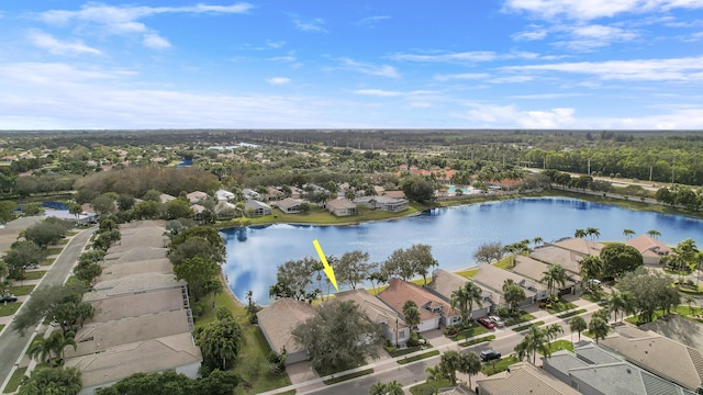
<instances>
[{"instance_id":1,"label":"large bushy grey-green tree just below the yellow arrow's tip","mask_svg":"<svg viewBox=\"0 0 703 395\"><path fill-rule=\"evenodd\" d=\"M321 374L356 366L366 358L378 358L382 342L380 327L371 323L357 304L334 302L321 308L292 331Z\"/></svg>"}]
</instances>

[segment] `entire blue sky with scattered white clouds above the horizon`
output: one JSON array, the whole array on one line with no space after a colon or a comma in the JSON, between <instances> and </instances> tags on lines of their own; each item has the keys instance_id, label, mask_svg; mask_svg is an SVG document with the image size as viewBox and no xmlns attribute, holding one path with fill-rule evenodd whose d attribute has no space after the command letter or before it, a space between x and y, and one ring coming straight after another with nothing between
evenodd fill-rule
<instances>
[{"instance_id":1,"label":"entire blue sky with scattered white clouds above the horizon","mask_svg":"<svg viewBox=\"0 0 703 395\"><path fill-rule=\"evenodd\" d=\"M703 0L0 4L0 129L703 129L702 88Z\"/></svg>"}]
</instances>

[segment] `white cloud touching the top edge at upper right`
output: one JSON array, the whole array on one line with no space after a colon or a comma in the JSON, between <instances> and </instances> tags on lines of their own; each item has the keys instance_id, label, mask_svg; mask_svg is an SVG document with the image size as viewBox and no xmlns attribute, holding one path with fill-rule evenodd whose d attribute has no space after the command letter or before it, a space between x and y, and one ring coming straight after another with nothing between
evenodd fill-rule
<instances>
[{"instance_id":1,"label":"white cloud touching the top edge at upper right","mask_svg":"<svg viewBox=\"0 0 703 395\"><path fill-rule=\"evenodd\" d=\"M537 18L566 16L573 20L611 18L622 13L703 8L700 0L507 0L506 11L525 11Z\"/></svg>"}]
</instances>

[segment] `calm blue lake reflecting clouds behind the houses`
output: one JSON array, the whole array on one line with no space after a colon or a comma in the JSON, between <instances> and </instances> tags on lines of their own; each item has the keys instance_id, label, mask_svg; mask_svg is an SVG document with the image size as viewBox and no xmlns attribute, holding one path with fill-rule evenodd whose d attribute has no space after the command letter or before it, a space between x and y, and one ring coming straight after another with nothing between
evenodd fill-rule
<instances>
[{"instance_id":1,"label":"calm blue lake reflecting clouds behind the houses","mask_svg":"<svg viewBox=\"0 0 703 395\"><path fill-rule=\"evenodd\" d=\"M386 260L395 249L427 244L439 268L459 270L476 266L473 253L486 242L507 245L537 236L551 241L589 227L599 229L599 240L624 240L625 228L637 234L656 229L667 245L692 238L703 247L703 222L696 218L574 199L520 199L435 208L415 217L354 226L269 225L227 229L222 232L227 245L224 270L230 287L241 301L252 290L255 300L265 305L279 264L305 256L316 257L313 239L320 240L327 256L362 250L369 252L372 262Z\"/></svg>"}]
</instances>

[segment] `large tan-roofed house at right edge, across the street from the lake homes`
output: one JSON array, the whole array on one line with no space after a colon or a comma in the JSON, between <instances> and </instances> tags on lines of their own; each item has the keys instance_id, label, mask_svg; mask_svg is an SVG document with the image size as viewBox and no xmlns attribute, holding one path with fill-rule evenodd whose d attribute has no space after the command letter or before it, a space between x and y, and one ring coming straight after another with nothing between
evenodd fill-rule
<instances>
[{"instance_id":1,"label":"large tan-roofed house at right edge, across the street from the lake homes","mask_svg":"<svg viewBox=\"0 0 703 395\"><path fill-rule=\"evenodd\" d=\"M600 346L661 379L703 393L703 352L698 349L629 325L617 327Z\"/></svg>"}]
</instances>

